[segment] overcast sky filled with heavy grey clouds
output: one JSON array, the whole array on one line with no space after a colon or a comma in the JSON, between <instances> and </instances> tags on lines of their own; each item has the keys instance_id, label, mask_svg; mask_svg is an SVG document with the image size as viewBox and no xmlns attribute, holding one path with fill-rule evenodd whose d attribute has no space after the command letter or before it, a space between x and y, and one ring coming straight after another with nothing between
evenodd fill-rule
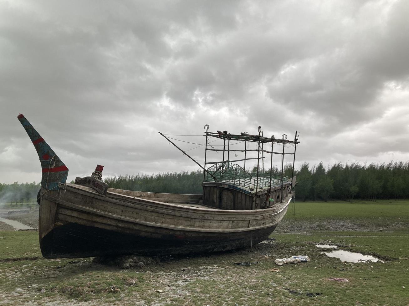
<instances>
[{"instance_id":1,"label":"overcast sky filled with heavy grey clouds","mask_svg":"<svg viewBox=\"0 0 409 306\"><path fill-rule=\"evenodd\" d=\"M408 16L406 0L0 0L0 182L40 181L18 113L69 181L198 169L157 131L205 124L298 130L297 165L407 161Z\"/></svg>"}]
</instances>

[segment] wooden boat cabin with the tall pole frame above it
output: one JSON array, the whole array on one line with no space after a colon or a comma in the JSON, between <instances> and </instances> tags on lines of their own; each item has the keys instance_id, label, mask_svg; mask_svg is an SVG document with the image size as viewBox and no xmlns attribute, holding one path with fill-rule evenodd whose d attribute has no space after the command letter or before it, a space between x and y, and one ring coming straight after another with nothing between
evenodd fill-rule
<instances>
[{"instance_id":1,"label":"wooden boat cabin with the tall pole frame above it","mask_svg":"<svg viewBox=\"0 0 409 306\"><path fill-rule=\"evenodd\" d=\"M285 134L283 134L282 139L276 139L274 136L263 137L260 126L258 127L258 135L249 135L248 133L232 135L227 131L211 133L206 128L208 129L208 126L205 126L204 135L206 137L206 153L202 204L219 209L254 210L271 208L275 203L282 202L282 199L288 196L292 189L292 179L289 180L287 176L283 176L284 155L294 155L293 174L295 151L299 143L297 131L292 141L287 140ZM209 143L211 137L216 137L223 142L220 149L215 149L216 145L213 142L212 144ZM238 143L243 143L244 149L237 149L237 146L233 147L234 144ZM252 149L249 144L256 144L256 148ZM279 151L273 151L274 144L276 147L279 146ZM294 152L285 152L285 147L288 144L293 144ZM215 151L219 153L219 156L222 155L223 160L208 162L206 160L208 153ZM231 160L231 152L234 153L235 157L240 152L242 155L244 154L244 158ZM279 174L273 173L274 155L281 155L279 160L281 173ZM266 159L267 162L265 163ZM249 160L257 160L253 172L245 170L246 162ZM209 165L208 168L207 165ZM267 168L265 166L268 169L265 169Z\"/></svg>"}]
</instances>

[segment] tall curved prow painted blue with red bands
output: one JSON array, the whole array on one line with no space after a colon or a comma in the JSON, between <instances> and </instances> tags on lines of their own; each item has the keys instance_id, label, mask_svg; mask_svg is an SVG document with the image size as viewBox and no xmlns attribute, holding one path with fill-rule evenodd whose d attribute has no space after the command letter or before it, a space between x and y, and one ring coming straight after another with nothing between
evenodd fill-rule
<instances>
[{"instance_id":1,"label":"tall curved prow painted blue with red bands","mask_svg":"<svg viewBox=\"0 0 409 306\"><path fill-rule=\"evenodd\" d=\"M18 114L18 120L24 127L31 142L36 148L41 163L41 186L46 190L57 189L58 183L67 182L68 168L45 142L43 137L38 134L36 129L28 122L22 114Z\"/></svg>"}]
</instances>

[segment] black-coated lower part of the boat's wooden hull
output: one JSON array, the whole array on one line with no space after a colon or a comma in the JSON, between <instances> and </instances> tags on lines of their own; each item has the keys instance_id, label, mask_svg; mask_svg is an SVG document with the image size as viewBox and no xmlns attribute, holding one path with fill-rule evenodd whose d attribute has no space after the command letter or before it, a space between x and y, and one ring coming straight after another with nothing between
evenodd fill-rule
<instances>
[{"instance_id":1,"label":"black-coated lower part of the boat's wooden hull","mask_svg":"<svg viewBox=\"0 0 409 306\"><path fill-rule=\"evenodd\" d=\"M257 244L276 226L240 233L202 233L200 239L187 241L167 235L163 239L147 239L136 235L109 231L79 224L65 224L49 232L40 241L45 258L81 258L137 254L162 256L227 251Z\"/></svg>"}]
</instances>

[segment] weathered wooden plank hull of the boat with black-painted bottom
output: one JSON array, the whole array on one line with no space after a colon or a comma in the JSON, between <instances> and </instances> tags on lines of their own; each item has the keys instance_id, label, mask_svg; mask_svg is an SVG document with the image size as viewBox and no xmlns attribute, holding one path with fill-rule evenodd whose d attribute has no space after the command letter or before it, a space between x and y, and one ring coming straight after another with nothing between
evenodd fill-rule
<instances>
[{"instance_id":1,"label":"weathered wooden plank hull of the boat with black-painted bottom","mask_svg":"<svg viewBox=\"0 0 409 306\"><path fill-rule=\"evenodd\" d=\"M178 195L174 196L172 201L177 201ZM177 255L248 247L267 239L285 215L290 199L291 195L273 208L234 211L117 192L104 197L91 188L65 184L59 191L43 195L40 248L45 258L77 258ZM179 200L198 202L199 198L181 195Z\"/></svg>"}]
</instances>

